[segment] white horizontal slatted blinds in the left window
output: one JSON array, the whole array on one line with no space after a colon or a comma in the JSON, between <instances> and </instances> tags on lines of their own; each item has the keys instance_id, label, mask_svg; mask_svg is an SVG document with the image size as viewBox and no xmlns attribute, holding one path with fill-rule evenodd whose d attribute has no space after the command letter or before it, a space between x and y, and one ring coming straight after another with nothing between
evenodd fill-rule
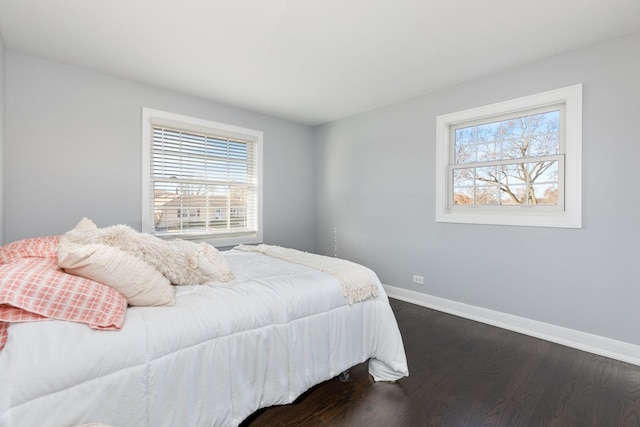
<instances>
[{"instance_id":1,"label":"white horizontal slatted blinds in the left window","mask_svg":"<svg viewBox=\"0 0 640 427\"><path fill-rule=\"evenodd\" d=\"M151 212L156 235L257 234L257 141L153 121L151 134Z\"/></svg>"}]
</instances>

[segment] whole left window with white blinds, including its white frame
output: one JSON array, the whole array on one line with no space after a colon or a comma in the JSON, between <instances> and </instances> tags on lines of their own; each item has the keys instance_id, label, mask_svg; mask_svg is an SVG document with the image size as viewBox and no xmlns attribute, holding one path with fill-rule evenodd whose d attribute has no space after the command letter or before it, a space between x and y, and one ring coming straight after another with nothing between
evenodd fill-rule
<instances>
[{"instance_id":1,"label":"whole left window with white blinds, including its white frame","mask_svg":"<svg viewBox=\"0 0 640 427\"><path fill-rule=\"evenodd\" d=\"M142 135L145 232L262 241L262 132L144 108Z\"/></svg>"}]
</instances>

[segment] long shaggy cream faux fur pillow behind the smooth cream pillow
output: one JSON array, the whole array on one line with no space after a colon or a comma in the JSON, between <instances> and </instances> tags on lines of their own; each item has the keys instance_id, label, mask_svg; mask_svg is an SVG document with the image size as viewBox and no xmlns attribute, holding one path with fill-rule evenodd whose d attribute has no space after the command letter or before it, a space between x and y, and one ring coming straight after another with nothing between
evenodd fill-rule
<instances>
[{"instance_id":1,"label":"long shaggy cream faux fur pillow behind the smooth cream pillow","mask_svg":"<svg viewBox=\"0 0 640 427\"><path fill-rule=\"evenodd\" d=\"M210 280L197 268L197 261L177 251L170 243L151 234L138 233L126 225L98 228L91 220L83 218L65 237L76 244L121 249L144 260L174 285L199 285Z\"/></svg>"}]
</instances>

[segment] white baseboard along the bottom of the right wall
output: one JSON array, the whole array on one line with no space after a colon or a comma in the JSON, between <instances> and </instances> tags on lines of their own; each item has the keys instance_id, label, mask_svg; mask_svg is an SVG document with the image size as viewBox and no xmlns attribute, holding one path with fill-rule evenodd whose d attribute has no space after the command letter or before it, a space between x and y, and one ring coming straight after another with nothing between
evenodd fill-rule
<instances>
[{"instance_id":1,"label":"white baseboard along the bottom of the right wall","mask_svg":"<svg viewBox=\"0 0 640 427\"><path fill-rule=\"evenodd\" d=\"M638 345L434 297L395 286L384 285L384 289L390 298L640 366L640 346Z\"/></svg>"}]
</instances>

